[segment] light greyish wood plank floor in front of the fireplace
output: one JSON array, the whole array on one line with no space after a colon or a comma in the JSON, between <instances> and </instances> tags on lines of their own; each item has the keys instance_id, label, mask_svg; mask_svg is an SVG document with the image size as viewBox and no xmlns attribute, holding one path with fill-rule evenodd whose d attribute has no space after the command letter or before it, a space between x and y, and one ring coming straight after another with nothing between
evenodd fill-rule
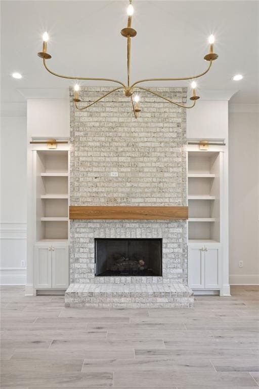
<instances>
[{"instance_id":1,"label":"light greyish wood plank floor in front of the fireplace","mask_svg":"<svg viewBox=\"0 0 259 389\"><path fill-rule=\"evenodd\" d=\"M231 293L109 310L2 287L1 388L258 389L259 287Z\"/></svg>"}]
</instances>

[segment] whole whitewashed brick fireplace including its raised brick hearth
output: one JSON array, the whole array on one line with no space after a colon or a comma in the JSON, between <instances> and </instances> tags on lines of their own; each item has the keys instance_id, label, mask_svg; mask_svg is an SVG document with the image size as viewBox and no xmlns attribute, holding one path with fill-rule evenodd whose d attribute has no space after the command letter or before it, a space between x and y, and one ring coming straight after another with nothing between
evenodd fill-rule
<instances>
[{"instance_id":1,"label":"whole whitewashed brick fireplace including its raised brick hearth","mask_svg":"<svg viewBox=\"0 0 259 389\"><path fill-rule=\"evenodd\" d=\"M82 88L81 98L92 101L109 89ZM186 102L186 88L155 90ZM71 102L71 206L186 206L186 112L145 93L141 93L141 108L136 120L128 99L120 92L87 111L76 110ZM186 224L185 220L156 218L72 218L71 284L65 296L66 306L192 306L193 295L187 286ZM148 251L141 254L143 259L137 248L131 254L120 248L115 254L108 252L103 259L108 263L108 256L113 255L109 265L113 273L107 273L111 269L106 263L99 274L97 242L104 240L160 241L161 265L152 262ZM135 273L118 273L119 266L127 268L122 257L131 261ZM141 259L144 268L136 273ZM142 276L145 266L153 273L150 270Z\"/></svg>"}]
</instances>

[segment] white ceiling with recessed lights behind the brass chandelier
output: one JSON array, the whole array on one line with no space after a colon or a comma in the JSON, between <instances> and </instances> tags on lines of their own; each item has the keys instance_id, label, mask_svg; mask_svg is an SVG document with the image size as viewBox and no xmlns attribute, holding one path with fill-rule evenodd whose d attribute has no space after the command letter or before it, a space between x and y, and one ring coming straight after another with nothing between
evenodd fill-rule
<instances>
[{"instance_id":1,"label":"white ceiling with recessed lights behind the brass chandelier","mask_svg":"<svg viewBox=\"0 0 259 389\"><path fill-rule=\"evenodd\" d=\"M37 57L45 30L53 56L48 64L54 71L125 82L126 40L120 30L126 26L127 4L126 0L2 1L2 101L25 101L27 88L54 91L73 85L49 74ZM219 59L198 80L199 95L202 90L238 89L232 103L259 103L257 1L133 0L133 4L133 27L138 34L132 42L132 81L203 71L207 37L213 33ZM21 72L23 79L13 79L14 71ZM232 81L236 73L244 79Z\"/></svg>"}]
</instances>

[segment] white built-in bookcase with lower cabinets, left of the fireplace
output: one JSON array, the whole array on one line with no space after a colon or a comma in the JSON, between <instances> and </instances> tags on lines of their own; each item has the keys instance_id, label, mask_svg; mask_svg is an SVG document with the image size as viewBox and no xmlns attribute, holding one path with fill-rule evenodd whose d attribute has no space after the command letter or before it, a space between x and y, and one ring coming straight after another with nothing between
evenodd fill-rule
<instances>
[{"instance_id":1,"label":"white built-in bookcase with lower cabinets, left of the fireplace","mask_svg":"<svg viewBox=\"0 0 259 389\"><path fill-rule=\"evenodd\" d=\"M66 289L69 239L69 150L33 150L34 291Z\"/></svg>"}]
</instances>

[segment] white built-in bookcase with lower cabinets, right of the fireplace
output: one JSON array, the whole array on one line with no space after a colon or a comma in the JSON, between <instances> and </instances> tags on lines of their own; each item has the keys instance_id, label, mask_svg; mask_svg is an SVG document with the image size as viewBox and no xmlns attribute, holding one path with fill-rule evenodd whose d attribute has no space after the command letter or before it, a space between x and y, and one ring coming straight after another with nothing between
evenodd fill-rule
<instances>
[{"instance_id":1,"label":"white built-in bookcase with lower cabinets, right of the fireplace","mask_svg":"<svg viewBox=\"0 0 259 389\"><path fill-rule=\"evenodd\" d=\"M222 289L223 152L188 151L188 283L194 292Z\"/></svg>"}]
</instances>

